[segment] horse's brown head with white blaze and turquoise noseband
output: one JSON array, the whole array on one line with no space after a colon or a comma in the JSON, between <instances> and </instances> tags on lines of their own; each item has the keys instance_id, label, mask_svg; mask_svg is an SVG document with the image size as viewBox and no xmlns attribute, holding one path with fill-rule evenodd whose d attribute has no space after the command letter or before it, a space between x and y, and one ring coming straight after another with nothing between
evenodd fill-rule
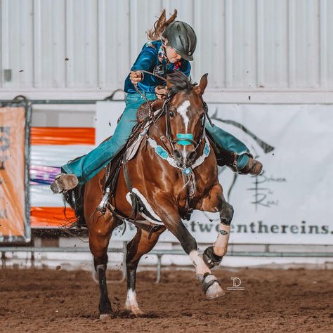
<instances>
[{"instance_id":1,"label":"horse's brown head with white blaze and turquoise noseband","mask_svg":"<svg viewBox=\"0 0 333 333\"><path fill-rule=\"evenodd\" d=\"M178 166L191 166L197 156L197 148L204 138L205 103L202 94L207 86L207 75L200 84L192 84L181 72L169 75L166 86L169 98L166 102L166 135L171 141Z\"/></svg>"}]
</instances>

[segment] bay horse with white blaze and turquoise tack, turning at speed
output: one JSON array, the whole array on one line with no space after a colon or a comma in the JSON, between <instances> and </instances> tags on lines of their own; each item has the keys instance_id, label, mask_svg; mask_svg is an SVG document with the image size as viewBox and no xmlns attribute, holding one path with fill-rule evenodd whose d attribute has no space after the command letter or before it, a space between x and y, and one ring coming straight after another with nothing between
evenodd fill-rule
<instances>
[{"instance_id":1,"label":"bay horse with white blaze and turquoise tack, turning at speed","mask_svg":"<svg viewBox=\"0 0 333 333\"><path fill-rule=\"evenodd\" d=\"M150 252L166 229L176 236L190 257L207 298L224 294L211 268L218 266L226 254L233 207L223 197L216 157L204 130L209 119L202 99L207 74L197 85L177 72L167 78L166 86L169 95L162 111L148 131L141 133L143 141L135 157L119 167L115 195L110 200L112 209L96 210L105 196L105 168L85 185L64 194L65 201L89 230L89 247L100 288L100 319L113 316L105 277L107 247L112 230L126 216L133 216L134 199L141 202L134 221L141 226L127 244L125 308L141 315L136 301L136 268L141 256ZM220 214L216 242L202 256L195 238L182 222L193 209Z\"/></svg>"}]
</instances>

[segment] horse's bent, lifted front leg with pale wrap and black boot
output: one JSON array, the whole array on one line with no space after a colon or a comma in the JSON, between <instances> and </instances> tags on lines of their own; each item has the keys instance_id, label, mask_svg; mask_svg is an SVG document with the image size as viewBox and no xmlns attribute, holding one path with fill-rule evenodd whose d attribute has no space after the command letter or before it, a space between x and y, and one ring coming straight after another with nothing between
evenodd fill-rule
<instances>
[{"instance_id":1,"label":"horse's bent, lifted front leg with pale wrap and black boot","mask_svg":"<svg viewBox=\"0 0 333 333\"><path fill-rule=\"evenodd\" d=\"M216 242L213 243L213 246L207 247L202 255L209 268L213 268L221 263L223 256L227 253L233 206L224 199L221 185L216 184L209 192L209 196L202 201L201 207L197 207L197 209L220 213Z\"/></svg>"}]
</instances>

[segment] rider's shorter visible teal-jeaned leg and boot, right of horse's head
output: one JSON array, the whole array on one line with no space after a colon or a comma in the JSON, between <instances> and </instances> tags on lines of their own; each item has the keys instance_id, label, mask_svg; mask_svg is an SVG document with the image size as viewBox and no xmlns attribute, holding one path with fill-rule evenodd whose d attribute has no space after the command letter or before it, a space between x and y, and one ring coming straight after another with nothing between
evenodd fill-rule
<instances>
[{"instance_id":1,"label":"rider's shorter visible teal-jeaned leg and boot, right of horse's head","mask_svg":"<svg viewBox=\"0 0 333 333\"><path fill-rule=\"evenodd\" d=\"M249 148L247 148L242 141L227 131L220 129L216 125L211 126L209 122L206 122L206 130L209 132L214 141L216 141L219 148L236 154L236 165L231 165L235 170L241 171L245 174L260 174L262 164L252 158Z\"/></svg>"}]
</instances>

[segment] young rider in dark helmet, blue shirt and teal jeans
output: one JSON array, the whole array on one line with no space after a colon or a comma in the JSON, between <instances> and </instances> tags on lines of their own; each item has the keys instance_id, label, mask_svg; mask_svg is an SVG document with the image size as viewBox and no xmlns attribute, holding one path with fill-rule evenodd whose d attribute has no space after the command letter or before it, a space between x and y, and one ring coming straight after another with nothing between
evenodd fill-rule
<instances>
[{"instance_id":1,"label":"young rider in dark helmet, blue shirt and teal jeans","mask_svg":"<svg viewBox=\"0 0 333 333\"><path fill-rule=\"evenodd\" d=\"M150 41L143 46L131 67L131 72L126 77L124 86L126 107L113 136L100 143L89 154L63 165L62 174L58 175L51 184L53 192L60 193L74 188L78 183L86 183L124 147L137 123L136 111L141 104L145 103L145 99L136 91L136 87L148 100L161 98L166 92L164 88L161 89L161 86L165 85L162 79L144 74L141 70L153 72L162 77L166 77L166 74L174 70L190 75L190 61L193 60L197 37L190 25L175 21L176 15L175 11L174 15L166 20L165 11L163 11L155 22L154 28L148 31ZM233 152L233 156L237 157L235 163L230 166L242 174L260 174L262 164L252 158L244 143L218 126L211 126L209 122L206 123L206 128L220 148Z\"/></svg>"}]
</instances>

